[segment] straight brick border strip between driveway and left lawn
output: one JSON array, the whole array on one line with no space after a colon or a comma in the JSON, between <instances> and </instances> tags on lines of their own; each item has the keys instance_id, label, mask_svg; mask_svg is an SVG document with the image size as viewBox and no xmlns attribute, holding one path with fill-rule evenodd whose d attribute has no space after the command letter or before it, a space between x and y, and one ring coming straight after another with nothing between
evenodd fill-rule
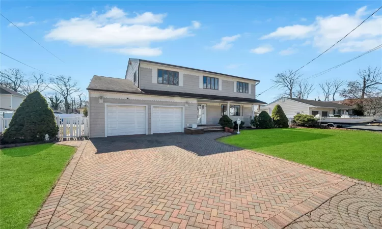
<instances>
[{"instance_id":1,"label":"straight brick border strip between driveway and left lawn","mask_svg":"<svg viewBox=\"0 0 382 229\"><path fill-rule=\"evenodd\" d=\"M33 223L28 228L42 229L48 227L87 143L88 140L81 142L81 145L77 148L77 151L33 220Z\"/></svg>"}]
</instances>

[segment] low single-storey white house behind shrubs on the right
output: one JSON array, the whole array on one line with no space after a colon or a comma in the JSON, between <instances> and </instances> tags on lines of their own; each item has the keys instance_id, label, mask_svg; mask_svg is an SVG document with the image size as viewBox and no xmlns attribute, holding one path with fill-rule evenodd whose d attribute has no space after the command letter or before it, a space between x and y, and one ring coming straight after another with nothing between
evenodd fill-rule
<instances>
[{"instance_id":1,"label":"low single-storey white house behind shrubs on the right","mask_svg":"<svg viewBox=\"0 0 382 229\"><path fill-rule=\"evenodd\" d=\"M269 114L272 113L273 108L279 104L285 115L288 118L293 118L298 113L305 113L306 115L320 115L321 117L329 117L329 115L343 115L352 113L352 107L339 103L324 102L308 99L295 99L295 98L280 98L271 103L261 106L261 110L266 110Z\"/></svg>"}]
</instances>

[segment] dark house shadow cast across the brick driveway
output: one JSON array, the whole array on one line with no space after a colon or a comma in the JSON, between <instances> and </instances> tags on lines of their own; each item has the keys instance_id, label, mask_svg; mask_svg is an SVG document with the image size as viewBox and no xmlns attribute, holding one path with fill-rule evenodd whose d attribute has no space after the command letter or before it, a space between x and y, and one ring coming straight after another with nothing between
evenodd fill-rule
<instances>
[{"instance_id":1,"label":"dark house shadow cast across the brick driveway","mask_svg":"<svg viewBox=\"0 0 382 229\"><path fill-rule=\"evenodd\" d=\"M97 153L149 149L156 147L176 146L198 156L238 151L240 148L228 146L215 141L215 138L227 136L224 132L213 132L201 135L183 133L125 135L104 138L91 138Z\"/></svg>"}]
</instances>

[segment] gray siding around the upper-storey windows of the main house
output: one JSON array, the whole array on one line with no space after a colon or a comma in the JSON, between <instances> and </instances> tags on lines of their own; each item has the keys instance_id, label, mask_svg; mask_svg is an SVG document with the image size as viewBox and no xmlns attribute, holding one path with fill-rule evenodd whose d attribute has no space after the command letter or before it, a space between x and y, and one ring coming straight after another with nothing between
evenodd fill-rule
<instances>
[{"instance_id":1,"label":"gray siding around the upper-storey windows of the main house","mask_svg":"<svg viewBox=\"0 0 382 229\"><path fill-rule=\"evenodd\" d=\"M217 78L219 78L219 76ZM199 88L199 76L190 74L183 75L183 87L177 85L152 83L152 69L140 67L140 89L229 96L238 98L255 98L255 82L251 83L251 94L238 93L233 91L234 80L240 81L239 79L232 79L232 81L222 80L223 87L222 85L219 85L219 87L222 87L222 91Z\"/></svg>"}]
</instances>

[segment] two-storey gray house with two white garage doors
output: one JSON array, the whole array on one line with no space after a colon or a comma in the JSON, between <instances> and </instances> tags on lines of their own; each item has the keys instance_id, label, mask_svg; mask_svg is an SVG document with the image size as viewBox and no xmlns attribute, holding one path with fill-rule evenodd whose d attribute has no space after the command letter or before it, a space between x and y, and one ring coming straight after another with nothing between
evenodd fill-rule
<instances>
[{"instance_id":1,"label":"two-storey gray house with two white garage doors","mask_svg":"<svg viewBox=\"0 0 382 229\"><path fill-rule=\"evenodd\" d=\"M184 132L217 125L222 115L250 125L259 80L129 59L125 79L93 76L89 87L90 137Z\"/></svg>"}]
</instances>

